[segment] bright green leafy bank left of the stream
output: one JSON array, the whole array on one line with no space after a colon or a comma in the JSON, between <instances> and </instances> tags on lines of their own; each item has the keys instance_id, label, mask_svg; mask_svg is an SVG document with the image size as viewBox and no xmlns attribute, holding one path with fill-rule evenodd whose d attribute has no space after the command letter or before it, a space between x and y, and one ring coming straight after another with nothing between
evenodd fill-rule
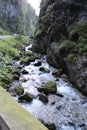
<instances>
[{"instance_id":1,"label":"bright green leafy bank left of the stream","mask_svg":"<svg viewBox=\"0 0 87 130\"><path fill-rule=\"evenodd\" d=\"M9 84L18 78L13 60L20 56L24 45L29 41L28 36L8 36L0 39L0 86Z\"/></svg>"}]
</instances>

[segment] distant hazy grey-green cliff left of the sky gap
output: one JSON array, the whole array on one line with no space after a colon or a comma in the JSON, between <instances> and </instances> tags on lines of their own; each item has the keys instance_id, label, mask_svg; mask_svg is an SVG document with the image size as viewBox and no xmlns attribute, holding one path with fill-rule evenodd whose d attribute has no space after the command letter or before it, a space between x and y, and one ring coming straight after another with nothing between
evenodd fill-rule
<instances>
[{"instance_id":1,"label":"distant hazy grey-green cliff left of the sky gap","mask_svg":"<svg viewBox=\"0 0 87 130\"><path fill-rule=\"evenodd\" d=\"M0 0L0 27L12 33L31 34L35 11L27 0Z\"/></svg>"}]
</instances>

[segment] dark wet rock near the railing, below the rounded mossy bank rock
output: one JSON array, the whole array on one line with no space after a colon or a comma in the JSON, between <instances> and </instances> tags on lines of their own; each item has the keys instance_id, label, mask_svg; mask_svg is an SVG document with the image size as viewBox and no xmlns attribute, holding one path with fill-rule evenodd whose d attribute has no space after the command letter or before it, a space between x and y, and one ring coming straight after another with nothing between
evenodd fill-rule
<instances>
[{"instance_id":1,"label":"dark wet rock near the railing, below the rounded mossy bank rock","mask_svg":"<svg viewBox=\"0 0 87 130\"><path fill-rule=\"evenodd\" d=\"M30 93L26 92L24 95L20 96L18 100L20 102L30 102L33 100L33 96Z\"/></svg>"}]
</instances>

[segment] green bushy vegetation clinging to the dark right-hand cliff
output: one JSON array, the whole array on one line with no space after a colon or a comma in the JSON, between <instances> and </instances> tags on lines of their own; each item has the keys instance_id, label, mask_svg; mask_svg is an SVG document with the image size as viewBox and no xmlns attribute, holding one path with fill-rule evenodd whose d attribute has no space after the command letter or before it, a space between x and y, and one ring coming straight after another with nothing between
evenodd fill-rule
<instances>
[{"instance_id":1,"label":"green bushy vegetation clinging to the dark right-hand cliff","mask_svg":"<svg viewBox=\"0 0 87 130\"><path fill-rule=\"evenodd\" d=\"M71 26L68 31L69 40L61 43L60 54L64 54L68 61L74 61L78 54L87 55L87 21Z\"/></svg>"}]
</instances>

